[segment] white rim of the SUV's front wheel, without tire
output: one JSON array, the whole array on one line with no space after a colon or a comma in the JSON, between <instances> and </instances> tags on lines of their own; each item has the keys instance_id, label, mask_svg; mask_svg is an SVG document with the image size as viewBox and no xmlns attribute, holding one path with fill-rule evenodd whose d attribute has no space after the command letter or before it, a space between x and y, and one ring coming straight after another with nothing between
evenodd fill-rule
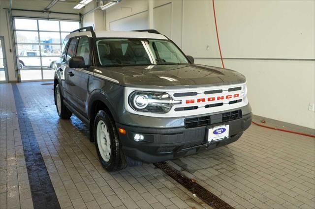
<instances>
[{"instance_id":1,"label":"white rim of the SUV's front wheel, without tire","mask_svg":"<svg viewBox=\"0 0 315 209\"><path fill-rule=\"evenodd\" d=\"M108 162L111 155L110 136L108 128L102 120L97 123L96 140L101 157L104 161Z\"/></svg>"}]
</instances>

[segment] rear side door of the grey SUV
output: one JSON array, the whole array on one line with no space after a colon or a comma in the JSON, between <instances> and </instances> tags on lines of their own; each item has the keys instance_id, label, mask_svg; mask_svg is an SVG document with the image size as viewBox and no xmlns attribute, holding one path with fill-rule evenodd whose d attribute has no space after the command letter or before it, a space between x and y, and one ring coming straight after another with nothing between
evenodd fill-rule
<instances>
[{"instance_id":1,"label":"rear side door of the grey SUV","mask_svg":"<svg viewBox=\"0 0 315 209\"><path fill-rule=\"evenodd\" d=\"M61 66L57 68L61 75L62 86L63 86L63 97L66 101L72 103L72 92L70 91L70 78L72 76L72 71L68 67L68 60L74 55L75 47L78 38L72 38L69 40L69 44L65 49L65 54L62 56Z\"/></svg>"}]
</instances>

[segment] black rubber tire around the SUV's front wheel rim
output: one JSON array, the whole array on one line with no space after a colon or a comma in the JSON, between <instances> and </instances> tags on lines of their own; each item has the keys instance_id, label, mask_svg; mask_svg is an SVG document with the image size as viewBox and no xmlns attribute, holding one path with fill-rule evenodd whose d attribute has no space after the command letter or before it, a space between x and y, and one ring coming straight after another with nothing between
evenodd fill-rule
<instances>
[{"instance_id":1,"label":"black rubber tire around the SUV's front wheel rim","mask_svg":"<svg viewBox=\"0 0 315 209\"><path fill-rule=\"evenodd\" d=\"M104 158L100 154L100 150L98 147L98 140L97 140L97 125L99 122L103 122L109 133L109 140L110 140L110 157L108 161L105 161ZM122 145L118 138L118 133L115 126L114 119L104 110L99 110L95 116L94 120L94 141L96 152L99 158L100 163L102 164L103 168L107 171L118 171L121 169L126 168L126 158L122 151Z\"/></svg>"}]
</instances>

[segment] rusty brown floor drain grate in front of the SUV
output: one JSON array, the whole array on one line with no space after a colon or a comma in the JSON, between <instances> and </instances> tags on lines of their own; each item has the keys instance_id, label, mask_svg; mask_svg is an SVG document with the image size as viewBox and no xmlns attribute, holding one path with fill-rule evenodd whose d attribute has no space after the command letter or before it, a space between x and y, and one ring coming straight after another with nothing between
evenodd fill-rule
<instances>
[{"instance_id":1,"label":"rusty brown floor drain grate in front of the SUV","mask_svg":"<svg viewBox=\"0 0 315 209\"><path fill-rule=\"evenodd\" d=\"M190 192L195 194L199 199L208 204L214 209L234 209L229 204L225 203L219 197L196 183L195 180L189 179L180 171L168 165L166 162L158 162L154 164L156 167L161 169L168 176L172 177L176 182L182 184Z\"/></svg>"}]
</instances>

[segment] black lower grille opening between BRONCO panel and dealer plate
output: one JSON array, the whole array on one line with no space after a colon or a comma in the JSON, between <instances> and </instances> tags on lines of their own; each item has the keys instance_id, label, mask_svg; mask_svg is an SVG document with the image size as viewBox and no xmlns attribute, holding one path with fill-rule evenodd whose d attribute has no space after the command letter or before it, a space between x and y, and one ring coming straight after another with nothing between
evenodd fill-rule
<instances>
[{"instance_id":1,"label":"black lower grille opening between BRONCO panel and dealer plate","mask_svg":"<svg viewBox=\"0 0 315 209\"><path fill-rule=\"evenodd\" d=\"M215 115L208 115L202 117L195 117L195 118L186 118L185 119L185 128L195 128L201 126L209 126L217 123L223 123L227 121L232 121L235 119L242 118L242 111L235 110L231 112L225 112L221 114Z\"/></svg>"}]
</instances>

